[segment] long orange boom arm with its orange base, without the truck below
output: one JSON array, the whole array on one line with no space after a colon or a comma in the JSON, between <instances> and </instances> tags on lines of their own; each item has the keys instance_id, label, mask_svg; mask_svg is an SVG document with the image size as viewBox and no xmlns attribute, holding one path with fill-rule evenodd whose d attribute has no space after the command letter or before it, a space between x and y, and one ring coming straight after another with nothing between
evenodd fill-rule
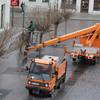
<instances>
[{"instance_id":1,"label":"long orange boom arm with its orange base, without the truck below","mask_svg":"<svg viewBox=\"0 0 100 100\"><path fill-rule=\"evenodd\" d=\"M91 27L82 29L80 31L72 32L48 41L45 41L36 46L28 47L28 51L36 50L39 48L55 45L60 42L67 41L72 38L80 37L80 44L83 46L91 46L100 48L100 24L93 25Z\"/></svg>"}]
</instances>

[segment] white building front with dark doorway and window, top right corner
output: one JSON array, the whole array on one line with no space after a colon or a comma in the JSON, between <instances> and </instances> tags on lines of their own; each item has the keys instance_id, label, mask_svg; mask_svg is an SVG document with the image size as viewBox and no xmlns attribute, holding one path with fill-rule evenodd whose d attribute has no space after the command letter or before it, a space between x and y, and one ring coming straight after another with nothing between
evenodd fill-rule
<instances>
[{"instance_id":1,"label":"white building front with dark doorway and window, top right corner","mask_svg":"<svg viewBox=\"0 0 100 100\"><path fill-rule=\"evenodd\" d=\"M76 12L100 15L100 0L76 0Z\"/></svg>"}]
</instances>

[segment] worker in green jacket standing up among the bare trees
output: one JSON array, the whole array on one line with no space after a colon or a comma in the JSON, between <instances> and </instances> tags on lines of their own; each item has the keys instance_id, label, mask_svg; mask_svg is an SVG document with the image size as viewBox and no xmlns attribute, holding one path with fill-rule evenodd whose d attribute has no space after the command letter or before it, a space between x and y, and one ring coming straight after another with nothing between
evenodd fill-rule
<instances>
[{"instance_id":1,"label":"worker in green jacket standing up among the bare trees","mask_svg":"<svg viewBox=\"0 0 100 100\"><path fill-rule=\"evenodd\" d=\"M27 27L28 33L29 33L29 42L33 41L33 34L35 30L35 23L33 21L30 21L29 26Z\"/></svg>"}]
</instances>

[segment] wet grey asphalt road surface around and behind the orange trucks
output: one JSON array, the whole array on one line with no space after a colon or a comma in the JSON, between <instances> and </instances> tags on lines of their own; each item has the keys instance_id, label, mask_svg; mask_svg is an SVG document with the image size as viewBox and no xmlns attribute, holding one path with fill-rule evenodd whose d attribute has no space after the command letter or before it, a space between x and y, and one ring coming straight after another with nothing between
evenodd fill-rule
<instances>
[{"instance_id":1,"label":"wet grey asphalt road surface around and behind the orange trucks","mask_svg":"<svg viewBox=\"0 0 100 100\"><path fill-rule=\"evenodd\" d=\"M87 26L93 25L97 21L69 20L67 32L70 33ZM64 23L59 26L58 34L63 35ZM45 38L45 37L44 37ZM43 54L63 55L63 46L70 48L71 41L59 44L57 47L47 47ZM70 48L71 49L71 48ZM80 63L73 64L67 56L68 69L64 88L57 90L53 98L30 96L25 88L25 78L27 73L24 67L18 65L18 54L13 52L9 56L0 59L0 100L99 100L100 99L100 64L95 66ZM71 70L74 67L74 77L69 81Z\"/></svg>"}]
</instances>

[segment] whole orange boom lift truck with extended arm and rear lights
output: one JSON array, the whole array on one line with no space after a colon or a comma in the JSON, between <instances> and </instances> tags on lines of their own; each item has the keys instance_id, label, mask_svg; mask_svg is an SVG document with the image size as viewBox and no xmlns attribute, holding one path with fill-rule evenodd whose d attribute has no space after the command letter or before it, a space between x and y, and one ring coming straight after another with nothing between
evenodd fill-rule
<instances>
[{"instance_id":1,"label":"whole orange boom lift truck with extended arm and rear lights","mask_svg":"<svg viewBox=\"0 0 100 100\"><path fill-rule=\"evenodd\" d=\"M95 24L88 28L72 32L57 38L45 41L36 46L28 47L28 51L36 50L39 48L55 45L60 42L67 41L73 38L80 38L80 45L74 45L73 50L70 50L70 56L73 61L77 59L89 60L96 62L96 58L100 56L100 24Z\"/></svg>"}]
</instances>

